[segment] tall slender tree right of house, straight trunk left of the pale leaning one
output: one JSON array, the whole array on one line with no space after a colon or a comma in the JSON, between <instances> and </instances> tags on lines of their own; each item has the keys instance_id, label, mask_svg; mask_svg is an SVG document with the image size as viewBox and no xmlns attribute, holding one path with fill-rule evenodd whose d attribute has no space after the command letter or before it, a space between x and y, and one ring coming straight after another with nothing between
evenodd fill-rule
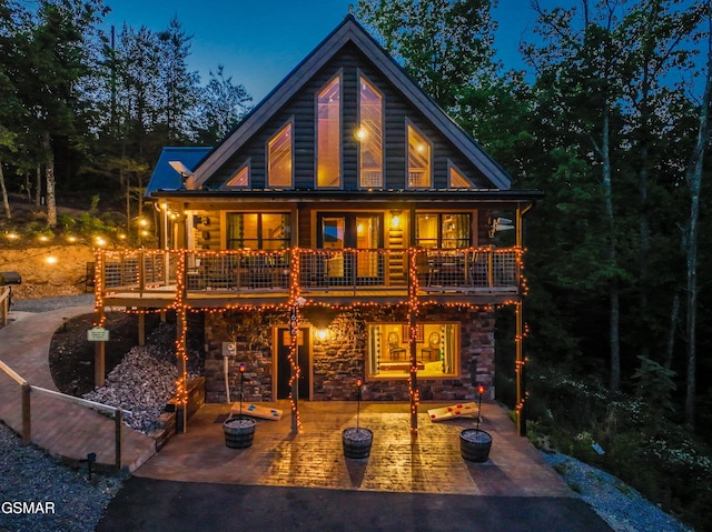
<instances>
[{"instance_id":1,"label":"tall slender tree right of house, straight trunk left of the pale leaning one","mask_svg":"<svg viewBox=\"0 0 712 532\"><path fill-rule=\"evenodd\" d=\"M590 160L600 171L600 197L604 214L604 254L597 264L607 285L610 387L621 383L620 279L616 212L613 197L612 121L617 121L622 86L620 46L615 34L614 0L600 2L594 11L582 0L583 21L578 30L572 24L575 10L545 11L537 0L532 7L540 16L540 32L545 44L530 47L527 58L540 70L537 82L553 83L563 121L577 133L581 148L590 147ZM615 144L614 144L615 145Z\"/></svg>"}]
</instances>

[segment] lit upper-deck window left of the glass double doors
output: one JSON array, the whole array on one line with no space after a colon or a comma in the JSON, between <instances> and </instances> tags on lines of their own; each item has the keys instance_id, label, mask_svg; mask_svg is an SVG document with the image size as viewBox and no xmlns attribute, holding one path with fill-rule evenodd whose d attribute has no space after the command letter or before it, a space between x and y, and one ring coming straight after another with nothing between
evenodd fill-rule
<instances>
[{"instance_id":1,"label":"lit upper-deck window left of the glass double doors","mask_svg":"<svg viewBox=\"0 0 712 532\"><path fill-rule=\"evenodd\" d=\"M230 212L227 214L227 248L231 250L283 250L290 242L289 214Z\"/></svg>"}]
</instances>

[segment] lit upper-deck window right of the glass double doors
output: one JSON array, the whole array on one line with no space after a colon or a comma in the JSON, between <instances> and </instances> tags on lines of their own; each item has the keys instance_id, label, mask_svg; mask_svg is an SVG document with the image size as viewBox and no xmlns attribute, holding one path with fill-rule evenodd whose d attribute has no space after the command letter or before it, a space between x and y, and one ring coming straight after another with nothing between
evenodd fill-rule
<instances>
[{"instance_id":1,"label":"lit upper-deck window right of the glass double doors","mask_svg":"<svg viewBox=\"0 0 712 532\"><path fill-rule=\"evenodd\" d=\"M416 214L415 239L418 248L458 249L472 245L468 213Z\"/></svg>"}]
</instances>

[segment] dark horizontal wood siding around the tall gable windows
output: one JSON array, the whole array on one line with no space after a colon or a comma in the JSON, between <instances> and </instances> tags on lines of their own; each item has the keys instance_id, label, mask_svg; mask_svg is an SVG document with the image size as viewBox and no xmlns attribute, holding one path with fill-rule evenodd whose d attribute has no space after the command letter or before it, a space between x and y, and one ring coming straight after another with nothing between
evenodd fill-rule
<instances>
[{"instance_id":1,"label":"dark horizontal wood siding around the tall gable windows","mask_svg":"<svg viewBox=\"0 0 712 532\"><path fill-rule=\"evenodd\" d=\"M365 76L384 98L384 189L405 189L407 139L406 119L433 144L433 188L448 185L448 160L474 183L486 180L458 151L426 120L425 116L386 80L378 69L353 44L345 46L319 70L303 90L291 98L265 126L206 183L220 187L233 178L249 160L250 187L266 188L266 144L288 121L294 123L294 188L315 188L316 164L316 98L317 92L342 72L343 128L343 187L358 190L358 143L350 132L358 127L358 79ZM427 192L424 192L427 193Z\"/></svg>"}]
</instances>

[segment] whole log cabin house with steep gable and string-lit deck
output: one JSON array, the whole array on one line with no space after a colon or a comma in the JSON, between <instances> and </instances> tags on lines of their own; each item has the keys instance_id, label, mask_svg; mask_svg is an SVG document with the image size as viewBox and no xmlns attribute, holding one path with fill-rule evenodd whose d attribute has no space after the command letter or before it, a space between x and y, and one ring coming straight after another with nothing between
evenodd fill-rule
<instances>
[{"instance_id":1,"label":"whole log cabin house with steep gable and string-lit deck","mask_svg":"<svg viewBox=\"0 0 712 532\"><path fill-rule=\"evenodd\" d=\"M202 328L208 402L240 363L247 401L494 398L541 197L511 183L349 16L219 145L164 150L159 249L100 252L97 308L175 309L184 359Z\"/></svg>"}]
</instances>

